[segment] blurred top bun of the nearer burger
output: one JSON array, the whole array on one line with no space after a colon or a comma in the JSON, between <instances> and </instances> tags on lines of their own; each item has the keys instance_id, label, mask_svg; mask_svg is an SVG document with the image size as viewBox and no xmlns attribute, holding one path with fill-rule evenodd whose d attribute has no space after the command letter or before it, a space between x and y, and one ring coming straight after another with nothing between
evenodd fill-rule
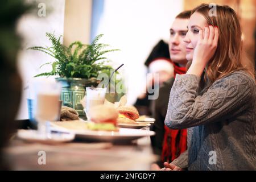
<instances>
[{"instance_id":1,"label":"blurred top bun of the nearer burger","mask_svg":"<svg viewBox=\"0 0 256 182\"><path fill-rule=\"evenodd\" d=\"M97 105L89 110L90 120L96 123L116 123L118 111L113 106Z\"/></svg>"}]
</instances>

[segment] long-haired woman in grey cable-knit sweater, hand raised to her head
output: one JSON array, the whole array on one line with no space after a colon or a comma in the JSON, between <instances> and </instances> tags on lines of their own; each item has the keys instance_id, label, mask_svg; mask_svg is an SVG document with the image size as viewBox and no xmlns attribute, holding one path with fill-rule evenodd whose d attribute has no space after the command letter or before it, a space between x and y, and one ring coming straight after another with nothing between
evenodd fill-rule
<instances>
[{"instance_id":1,"label":"long-haired woman in grey cable-knit sweater, hand raised to her head","mask_svg":"<svg viewBox=\"0 0 256 182\"><path fill-rule=\"evenodd\" d=\"M188 150L163 170L255 170L256 86L242 61L238 18L228 6L192 11L185 75L176 75L165 124L188 129Z\"/></svg>"}]
</instances>

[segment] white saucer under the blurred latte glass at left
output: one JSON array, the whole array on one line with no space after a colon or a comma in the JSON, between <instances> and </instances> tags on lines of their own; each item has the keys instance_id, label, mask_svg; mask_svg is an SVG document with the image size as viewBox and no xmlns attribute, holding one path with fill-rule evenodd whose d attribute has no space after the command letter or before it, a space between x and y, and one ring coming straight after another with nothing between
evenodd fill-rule
<instances>
[{"instance_id":1,"label":"white saucer under the blurred latte glass at left","mask_svg":"<svg viewBox=\"0 0 256 182\"><path fill-rule=\"evenodd\" d=\"M75 139L75 134L54 133L46 137L46 135L39 134L37 130L18 130L17 137L28 142L56 144L72 141Z\"/></svg>"}]
</instances>

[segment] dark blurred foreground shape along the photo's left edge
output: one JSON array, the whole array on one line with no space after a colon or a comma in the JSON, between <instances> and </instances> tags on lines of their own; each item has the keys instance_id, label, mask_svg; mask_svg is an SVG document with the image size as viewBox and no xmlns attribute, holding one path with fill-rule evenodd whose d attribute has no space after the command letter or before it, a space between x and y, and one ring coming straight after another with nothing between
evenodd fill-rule
<instances>
[{"instance_id":1,"label":"dark blurred foreground shape along the photo's left edge","mask_svg":"<svg viewBox=\"0 0 256 182\"><path fill-rule=\"evenodd\" d=\"M14 119L22 87L22 80L16 69L20 38L15 26L28 9L30 7L22 0L0 1L0 169L9 168L3 162L2 148L16 128Z\"/></svg>"}]
</instances>

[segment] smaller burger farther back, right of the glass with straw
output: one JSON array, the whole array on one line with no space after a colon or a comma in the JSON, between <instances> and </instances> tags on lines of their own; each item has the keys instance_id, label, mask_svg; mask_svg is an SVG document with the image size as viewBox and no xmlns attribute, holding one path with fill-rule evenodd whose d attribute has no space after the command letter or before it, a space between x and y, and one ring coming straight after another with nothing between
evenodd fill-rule
<instances>
[{"instance_id":1,"label":"smaller burger farther back, right of the glass with straw","mask_svg":"<svg viewBox=\"0 0 256 182\"><path fill-rule=\"evenodd\" d=\"M139 112L134 106L119 106L118 123L136 123L135 119L139 118Z\"/></svg>"}]
</instances>

